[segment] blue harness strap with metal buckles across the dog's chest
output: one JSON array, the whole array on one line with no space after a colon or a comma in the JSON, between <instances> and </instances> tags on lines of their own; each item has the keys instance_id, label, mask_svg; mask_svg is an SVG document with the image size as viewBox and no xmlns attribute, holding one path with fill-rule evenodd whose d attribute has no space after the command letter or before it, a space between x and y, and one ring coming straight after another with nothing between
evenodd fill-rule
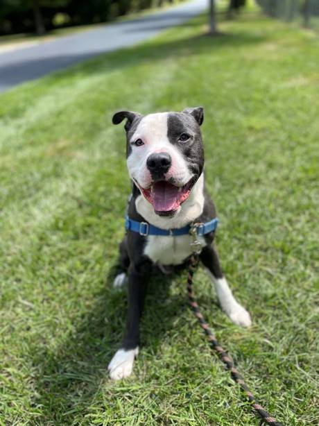
<instances>
[{"instance_id":1,"label":"blue harness strap with metal buckles across the dog's chest","mask_svg":"<svg viewBox=\"0 0 319 426\"><path fill-rule=\"evenodd\" d=\"M146 237L147 235L164 235L171 237L178 237L179 235L187 235L193 226L196 227L197 235L206 235L209 232L216 230L218 225L218 219L212 219L212 221L206 223L194 223L192 225L186 225L183 228L173 228L173 229L162 229L157 228L157 226L151 225L147 222L138 222L133 221L128 216L126 216L125 228L132 232L137 232L139 235Z\"/></svg>"}]
</instances>

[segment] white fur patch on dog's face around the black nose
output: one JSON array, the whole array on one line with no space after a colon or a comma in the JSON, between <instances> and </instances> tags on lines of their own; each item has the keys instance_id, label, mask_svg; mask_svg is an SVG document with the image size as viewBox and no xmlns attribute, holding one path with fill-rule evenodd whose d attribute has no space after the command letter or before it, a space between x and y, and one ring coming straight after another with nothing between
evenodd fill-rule
<instances>
[{"instance_id":1,"label":"white fur patch on dog's face around the black nose","mask_svg":"<svg viewBox=\"0 0 319 426\"><path fill-rule=\"evenodd\" d=\"M173 178L174 184L186 185L191 179L187 168L187 160L177 146L171 144L167 136L168 112L146 115L137 126L130 142L141 139L144 145L132 145L132 152L128 156L128 172L130 177L144 189L150 187L152 177L146 166L149 155L153 153L168 153L171 155L172 165L166 173L166 180Z\"/></svg>"}]
</instances>

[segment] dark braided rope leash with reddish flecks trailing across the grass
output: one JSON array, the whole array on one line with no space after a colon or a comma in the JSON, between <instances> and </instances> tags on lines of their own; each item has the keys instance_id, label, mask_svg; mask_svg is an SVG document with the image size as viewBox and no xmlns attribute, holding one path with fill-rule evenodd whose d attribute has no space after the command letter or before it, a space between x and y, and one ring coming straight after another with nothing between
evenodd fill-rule
<instances>
[{"instance_id":1,"label":"dark braided rope leash with reddish flecks trailing across the grass","mask_svg":"<svg viewBox=\"0 0 319 426\"><path fill-rule=\"evenodd\" d=\"M245 395L247 395L248 400L252 404L252 408L255 409L257 414L261 417L264 423L267 425L273 425L273 426L282 426L282 423L277 422L275 418L270 416L268 412L261 407L261 405L257 402L255 399L255 396L252 395L250 392L247 384L243 381L243 377L239 374L239 372L236 370L234 366L234 362L230 358L229 355L223 350L221 345L218 343L216 337L212 333L212 331L209 329L209 325L205 321L204 317L202 316L200 309L198 307L198 304L196 303L196 300L193 296L193 273L196 270L196 266L198 265L198 254L194 253L191 256L190 262L189 262L189 271L188 271L188 277L187 277L187 293L189 297L189 305L191 305L191 309L193 310L193 313L196 315L198 322L200 323L200 327L204 330L207 339L209 341L210 346L216 350L218 353L218 356L220 357L221 361L225 364L227 370L230 370L230 375L232 376L232 380L234 382L238 383L241 386L241 389L245 392Z\"/></svg>"}]
</instances>

